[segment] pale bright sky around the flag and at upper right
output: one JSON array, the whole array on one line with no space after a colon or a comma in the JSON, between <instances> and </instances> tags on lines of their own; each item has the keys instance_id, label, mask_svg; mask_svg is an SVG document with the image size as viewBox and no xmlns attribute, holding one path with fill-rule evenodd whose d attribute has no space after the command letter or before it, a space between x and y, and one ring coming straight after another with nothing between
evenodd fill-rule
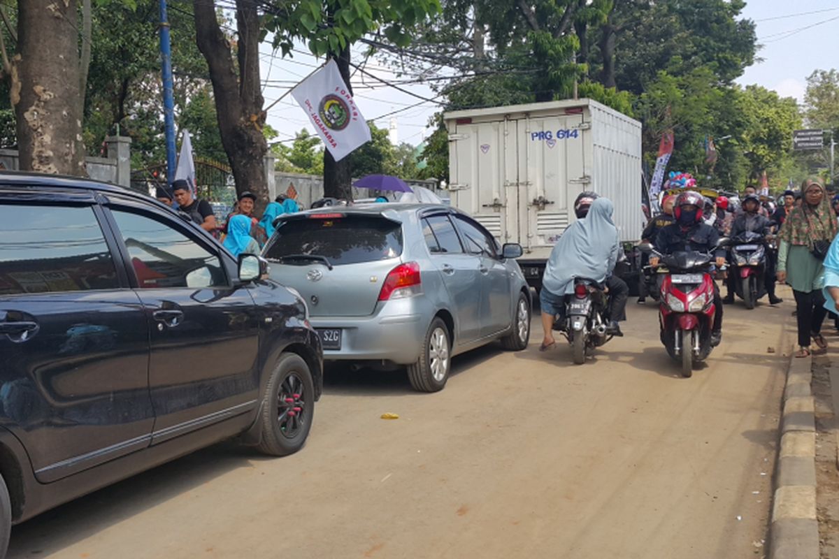
<instances>
[{"instance_id":1,"label":"pale bright sky around the flag and at upper right","mask_svg":"<svg viewBox=\"0 0 839 559\"><path fill-rule=\"evenodd\" d=\"M839 0L751 0L743 10L743 17L757 23L761 60L749 67L738 83L763 85L778 91L781 96L803 101L808 75L814 70L839 66L836 59ZM323 62L309 54L303 45L295 49L290 60L272 56L268 43L263 44L261 51L265 106L286 94ZM363 59L363 49L355 49L353 63L360 65ZM388 81L400 78L381 60L367 60L364 69L367 75L357 71L352 78L354 99L362 115L385 129L393 120L398 142L420 144L432 132L428 122L439 105L422 101L417 96L432 98L434 91L421 84L401 85L407 92L384 86L371 75ZM394 111L398 112L391 115ZM294 133L301 128L314 132L307 116L291 96L285 96L268 110L268 124L279 132L277 139L281 141L293 139Z\"/></svg>"}]
</instances>

